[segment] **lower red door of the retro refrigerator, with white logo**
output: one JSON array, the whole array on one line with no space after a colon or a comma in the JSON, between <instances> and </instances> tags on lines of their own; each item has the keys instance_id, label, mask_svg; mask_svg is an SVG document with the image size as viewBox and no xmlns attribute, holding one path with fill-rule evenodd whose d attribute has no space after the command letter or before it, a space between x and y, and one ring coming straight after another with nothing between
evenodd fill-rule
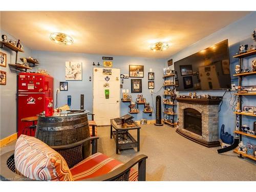
<instances>
[{"instance_id":1,"label":"lower red door of the retro refrigerator, with white logo","mask_svg":"<svg viewBox=\"0 0 256 192\"><path fill-rule=\"evenodd\" d=\"M26 117L36 116L44 111L45 94L44 93L18 93L18 136L26 134L30 136L35 135L35 130L24 132L24 128L33 124L33 122L22 122ZM35 124L37 121L35 121Z\"/></svg>"}]
</instances>

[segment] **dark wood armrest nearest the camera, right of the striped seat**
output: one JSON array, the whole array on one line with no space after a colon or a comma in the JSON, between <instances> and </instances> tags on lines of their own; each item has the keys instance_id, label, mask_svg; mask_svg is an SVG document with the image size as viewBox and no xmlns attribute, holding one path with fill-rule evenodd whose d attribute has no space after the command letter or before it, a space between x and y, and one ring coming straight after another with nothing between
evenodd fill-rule
<instances>
[{"instance_id":1,"label":"dark wood armrest nearest the camera, right of the striped seat","mask_svg":"<svg viewBox=\"0 0 256 192\"><path fill-rule=\"evenodd\" d=\"M117 179L118 177L123 175L125 172L127 172L128 169L132 168L137 163L139 163L139 170L138 170L139 178L138 178L138 180L145 181L146 180L146 159L147 159L147 156L138 155L108 174L94 177L94 178L84 179L81 181L114 181L115 179Z\"/></svg>"}]
</instances>

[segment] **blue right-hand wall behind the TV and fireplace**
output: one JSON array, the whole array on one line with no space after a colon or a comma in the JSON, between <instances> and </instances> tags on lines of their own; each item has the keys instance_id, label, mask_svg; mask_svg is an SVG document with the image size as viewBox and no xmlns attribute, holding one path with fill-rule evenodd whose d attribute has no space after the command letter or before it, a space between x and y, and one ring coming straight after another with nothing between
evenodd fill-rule
<instances>
[{"instance_id":1,"label":"blue right-hand wall behind the TV and fireplace","mask_svg":"<svg viewBox=\"0 0 256 192\"><path fill-rule=\"evenodd\" d=\"M252 12L240 20L226 26L225 28L212 33L211 35L197 41L195 44L190 45L189 47L179 51L175 55L172 55L170 58L173 58L173 61L178 61L184 57L187 57L191 54L194 54L200 50L203 50L207 47L210 47L224 39L228 39L229 43L229 59L230 59L230 72L231 72L231 83L238 84L237 78L233 78L234 74L234 66L239 64L239 59L232 58L232 56L236 55L239 50L239 46L243 44L248 45L256 45L256 42L253 41L250 36L253 29L256 27L256 12ZM255 59L255 56L248 57L244 60L244 67L249 68L251 70L251 61ZM172 66L173 67L173 66ZM243 86L250 85L256 86L256 78L255 76L245 77L243 80ZM222 96L224 91L197 91L198 95L209 94L214 96ZM231 92L233 95L235 92ZM188 92L177 92L177 94L188 95ZM225 131L232 134L234 131L234 114L232 111L232 107L229 105L229 101L231 98L231 94L229 92L223 98L223 104L221 106L221 111L219 114L219 127L222 124L225 124ZM246 96L243 97L243 105L248 106L256 106L255 102L256 96ZM234 96L232 101L234 100ZM230 102L231 103L231 102ZM243 124L247 124L253 129L253 121L256 121L256 118L253 117L243 117ZM251 142L256 144L256 139L247 138L243 136L243 140L245 143Z\"/></svg>"}]
</instances>

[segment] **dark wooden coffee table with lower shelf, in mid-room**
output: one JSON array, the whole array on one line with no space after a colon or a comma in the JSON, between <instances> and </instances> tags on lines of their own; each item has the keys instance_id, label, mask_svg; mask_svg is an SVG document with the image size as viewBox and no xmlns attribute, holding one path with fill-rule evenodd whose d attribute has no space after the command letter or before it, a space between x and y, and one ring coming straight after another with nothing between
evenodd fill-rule
<instances>
[{"instance_id":1,"label":"dark wooden coffee table with lower shelf, in mid-room","mask_svg":"<svg viewBox=\"0 0 256 192\"><path fill-rule=\"evenodd\" d=\"M136 122L119 125L114 119L110 119L110 124L110 138L115 139L116 154L118 154L118 150L135 147L137 147L137 152L140 151L140 126ZM113 128L115 131L113 131ZM137 141L129 133L129 130L137 130Z\"/></svg>"}]
</instances>

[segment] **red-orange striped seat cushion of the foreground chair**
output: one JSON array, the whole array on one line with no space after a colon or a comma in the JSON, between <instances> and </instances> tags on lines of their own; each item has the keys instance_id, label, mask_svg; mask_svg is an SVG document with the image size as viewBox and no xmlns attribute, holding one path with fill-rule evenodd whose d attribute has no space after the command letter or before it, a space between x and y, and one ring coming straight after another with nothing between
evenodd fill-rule
<instances>
[{"instance_id":1,"label":"red-orange striped seat cushion of the foreground chair","mask_svg":"<svg viewBox=\"0 0 256 192\"><path fill-rule=\"evenodd\" d=\"M75 181L101 176L123 165L120 161L104 154L96 153L73 166L70 171ZM138 172L131 169L129 181L138 181Z\"/></svg>"}]
</instances>

